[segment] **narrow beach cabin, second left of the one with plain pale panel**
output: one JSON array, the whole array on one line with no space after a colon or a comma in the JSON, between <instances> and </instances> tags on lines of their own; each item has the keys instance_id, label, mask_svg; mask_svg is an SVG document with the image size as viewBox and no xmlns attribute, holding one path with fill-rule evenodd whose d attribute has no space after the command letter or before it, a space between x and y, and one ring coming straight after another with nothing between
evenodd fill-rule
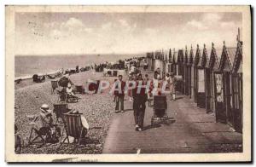
<instances>
[{"instance_id":1,"label":"narrow beach cabin, second left of the one with plain pale panel","mask_svg":"<svg viewBox=\"0 0 256 167\"><path fill-rule=\"evenodd\" d=\"M194 68L195 68L195 65L194 65L194 60L195 60L195 57L194 57L194 51L193 51L193 48L192 48L192 45L191 45L191 49L190 49L190 53L189 53L189 84L190 84L190 88L189 88L189 96L190 98L195 101L195 89L194 89Z\"/></svg>"}]
</instances>

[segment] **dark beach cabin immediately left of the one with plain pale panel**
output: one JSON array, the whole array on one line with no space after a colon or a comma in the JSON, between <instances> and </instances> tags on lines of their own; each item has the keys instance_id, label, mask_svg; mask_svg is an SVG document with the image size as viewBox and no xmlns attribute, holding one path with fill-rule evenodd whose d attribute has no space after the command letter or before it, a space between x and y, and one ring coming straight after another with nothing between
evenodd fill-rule
<instances>
[{"instance_id":1,"label":"dark beach cabin immediately left of the one with plain pale panel","mask_svg":"<svg viewBox=\"0 0 256 167\"><path fill-rule=\"evenodd\" d=\"M198 72L201 74L201 71L197 71L198 65L200 64L199 62L201 61L201 50L199 49L199 45L197 44L196 52L195 52L195 60L194 60L194 101L197 103L197 91L198 91ZM201 79L201 76L200 76ZM201 85L200 85L201 86ZM202 91L200 89L200 91Z\"/></svg>"}]
</instances>

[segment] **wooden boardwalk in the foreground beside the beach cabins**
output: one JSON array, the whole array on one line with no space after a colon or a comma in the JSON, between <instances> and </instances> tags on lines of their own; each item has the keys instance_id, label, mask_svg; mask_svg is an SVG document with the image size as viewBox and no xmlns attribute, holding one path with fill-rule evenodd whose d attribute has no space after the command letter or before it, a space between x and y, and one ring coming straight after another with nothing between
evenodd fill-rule
<instances>
[{"instance_id":1,"label":"wooden boardwalk in the foreground beside the beach cabins","mask_svg":"<svg viewBox=\"0 0 256 167\"><path fill-rule=\"evenodd\" d=\"M151 126L153 108L147 103L141 132L135 131L131 101L125 101L125 109L114 113L103 153L242 152L242 135L227 124L215 123L213 114L187 96L177 95L177 101L168 102L167 115L174 120L156 127Z\"/></svg>"}]
</instances>

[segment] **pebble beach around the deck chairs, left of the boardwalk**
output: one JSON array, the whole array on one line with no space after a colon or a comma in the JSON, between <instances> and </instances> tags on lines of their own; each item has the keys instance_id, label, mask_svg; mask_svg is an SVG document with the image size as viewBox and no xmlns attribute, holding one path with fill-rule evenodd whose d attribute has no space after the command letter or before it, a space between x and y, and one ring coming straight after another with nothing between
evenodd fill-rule
<instances>
[{"instance_id":1,"label":"pebble beach around the deck chairs, left of the boardwalk","mask_svg":"<svg viewBox=\"0 0 256 167\"><path fill-rule=\"evenodd\" d=\"M102 72L80 72L70 76L74 84L85 85L87 79L107 80L113 82L113 77L103 77ZM23 81L22 81L23 82ZM15 124L18 126L19 135L26 146L30 125L28 115L36 115L40 111L42 104L49 104L50 109L53 109L53 104L58 103L58 95L51 95L50 80L44 83L19 83L21 86L15 86ZM103 144L107 136L108 128L111 122L112 112L114 111L114 103L112 96L108 91L102 94L94 95L78 95L80 100L76 103L68 103L70 109L83 112L87 119L90 128L87 134L86 144L80 145L77 153L102 153ZM55 117L55 115L54 115ZM50 145L50 147L48 147ZM59 143L46 144L44 147L23 147L21 153L56 153L56 148ZM75 146L62 147L58 153L69 153Z\"/></svg>"}]
</instances>

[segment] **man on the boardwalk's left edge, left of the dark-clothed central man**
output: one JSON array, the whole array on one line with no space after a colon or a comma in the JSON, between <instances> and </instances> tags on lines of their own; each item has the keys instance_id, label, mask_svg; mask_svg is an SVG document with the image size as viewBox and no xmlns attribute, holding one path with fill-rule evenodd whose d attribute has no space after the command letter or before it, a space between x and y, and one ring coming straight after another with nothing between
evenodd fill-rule
<instances>
[{"instance_id":1,"label":"man on the boardwalk's left edge, left of the dark-clothed central man","mask_svg":"<svg viewBox=\"0 0 256 167\"><path fill-rule=\"evenodd\" d=\"M125 98L125 82L123 81L123 76L119 75L119 79L116 81L116 88L119 90L115 90L115 111L116 112L124 112L124 98Z\"/></svg>"}]
</instances>

